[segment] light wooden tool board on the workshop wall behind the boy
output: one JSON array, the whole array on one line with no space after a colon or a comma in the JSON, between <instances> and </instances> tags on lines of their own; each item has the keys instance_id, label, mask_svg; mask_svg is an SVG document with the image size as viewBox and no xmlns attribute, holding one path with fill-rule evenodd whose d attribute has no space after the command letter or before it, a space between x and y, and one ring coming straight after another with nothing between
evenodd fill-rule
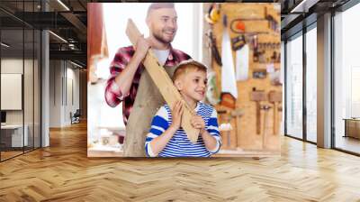
<instances>
[{"instance_id":1,"label":"light wooden tool board on the workshop wall behind the boy","mask_svg":"<svg viewBox=\"0 0 360 202\"><path fill-rule=\"evenodd\" d=\"M211 4L205 4L209 7ZM237 81L238 87L238 99L236 100L236 109L240 109L243 113L238 120L231 119L230 124L233 130L228 133L221 132L223 146L222 151L240 151L243 152L255 152L261 154L262 152L280 152L280 124L282 120L282 112L279 110L282 108L282 104L278 103L278 133L274 133L274 103L269 101L269 92L275 91L278 94L282 93L283 87L281 85L273 85L270 74L267 70L280 71L280 29L275 29L274 23L269 23L269 16L271 16L275 23L280 27L280 6L278 4L239 4L239 3L224 3L220 4L220 19L217 23L208 26L208 29L212 29L213 37L216 39L216 45L221 52L221 40L223 29L228 29L230 39L240 35L241 30L231 30L231 22L239 19L245 25L244 34L246 43L249 44L249 69L248 78L244 81ZM204 12L205 13L205 12ZM225 28L222 23L223 16L227 16L228 26ZM273 28L273 29L272 29ZM204 32L207 32L204 30ZM255 46L252 42L254 36L257 36L257 52L264 51L261 56L254 57ZM274 55L276 52L276 57ZM232 58L234 64L236 64L235 51L232 50ZM255 59L257 58L257 59ZM271 65L273 64L273 65ZM221 67L211 59L211 69L216 73L217 86L221 86ZM234 67L234 72L236 71ZM253 72L266 72L266 78L253 78ZM280 74L280 73L279 73ZM251 101L251 93L253 89L263 90L266 93L266 101L261 101L259 106L270 106L271 109L267 111L260 110L257 114L257 103ZM219 96L219 95L218 95ZM281 95L280 95L281 96ZM215 106L218 110L227 111L227 114L219 115L219 124L227 121L227 115L233 111L233 109L226 106ZM219 113L218 113L219 114ZM267 121L265 123L265 116ZM260 122L260 133L257 133L257 118ZM266 124L266 125L265 125ZM230 142L228 144L228 137Z\"/></svg>"}]
</instances>

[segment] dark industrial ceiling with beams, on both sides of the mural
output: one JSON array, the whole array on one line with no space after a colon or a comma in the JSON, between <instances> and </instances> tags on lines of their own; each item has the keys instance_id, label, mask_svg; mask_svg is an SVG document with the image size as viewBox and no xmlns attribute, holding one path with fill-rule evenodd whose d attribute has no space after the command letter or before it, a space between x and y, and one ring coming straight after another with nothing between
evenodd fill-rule
<instances>
[{"instance_id":1,"label":"dark industrial ceiling with beams, on both sides of the mural","mask_svg":"<svg viewBox=\"0 0 360 202\"><path fill-rule=\"evenodd\" d=\"M302 29L301 23L304 19L311 19L312 17L312 19L316 21L318 14L344 5L347 1L348 0L243 0L241 2L281 3L283 38L293 32L297 32L296 29ZM21 52L20 50L25 48L25 54L26 52L31 52L32 35L31 32L25 32L23 36L23 26L25 26L25 29L49 29L52 32L49 34L50 59L74 60L84 64L85 67L87 2L104 1L42 0L41 5L40 0L1 0L0 23L3 30L2 41L12 44L11 48L6 51L10 54L16 51ZM47 12L44 12L45 10ZM307 20L306 22L311 23L311 20ZM31 36L29 36L29 34ZM25 39L24 45L23 37ZM28 51L28 49L30 50Z\"/></svg>"}]
</instances>

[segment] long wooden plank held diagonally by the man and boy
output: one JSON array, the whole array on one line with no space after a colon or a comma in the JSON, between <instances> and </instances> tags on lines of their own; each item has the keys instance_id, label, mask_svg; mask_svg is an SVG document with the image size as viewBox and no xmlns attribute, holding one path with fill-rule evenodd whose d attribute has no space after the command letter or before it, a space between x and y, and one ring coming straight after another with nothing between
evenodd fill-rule
<instances>
[{"instance_id":1,"label":"long wooden plank held diagonally by the man and boy","mask_svg":"<svg viewBox=\"0 0 360 202\"><path fill-rule=\"evenodd\" d=\"M128 35L131 43L135 46L136 41L141 36L141 34L131 19L128 21L126 34ZM192 124L190 123L190 119L194 115L194 112L190 106L186 104L179 91L177 91L173 81L168 77L165 69L158 63L157 57L151 49L148 50L148 54L142 63L144 64L145 69L147 69L148 74L154 81L155 85L159 89L161 95L164 97L167 105L169 105L170 108L173 108L175 101L182 100L184 104L184 113L181 126L183 127L189 140L191 142L197 142L200 130L193 128Z\"/></svg>"}]
</instances>

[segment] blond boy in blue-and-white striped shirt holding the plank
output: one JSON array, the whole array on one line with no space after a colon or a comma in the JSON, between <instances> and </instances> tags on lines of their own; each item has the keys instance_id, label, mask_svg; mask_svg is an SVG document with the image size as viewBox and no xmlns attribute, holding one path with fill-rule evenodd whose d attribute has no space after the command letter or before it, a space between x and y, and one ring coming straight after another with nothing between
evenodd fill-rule
<instances>
[{"instance_id":1,"label":"blond boy in blue-and-white striped shirt holding the plank","mask_svg":"<svg viewBox=\"0 0 360 202\"><path fill-rule=\"evenodd\" d=\"M200 129L198 141L192 143L180 127L183 104L176 101L171 110L161 106L154 116L145 142L148 157L209 157L219 152L221 141L216 110L200 102L206 92L206 67L194 60L180 62L173 81L184 101L196 115L191 124Z\"/></svg>"}]
</instances>

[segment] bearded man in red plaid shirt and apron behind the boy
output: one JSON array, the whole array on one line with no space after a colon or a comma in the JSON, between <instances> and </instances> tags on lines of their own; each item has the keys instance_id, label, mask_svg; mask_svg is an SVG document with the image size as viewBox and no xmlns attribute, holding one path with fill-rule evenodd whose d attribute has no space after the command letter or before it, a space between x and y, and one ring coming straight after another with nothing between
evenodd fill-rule
<instances>
[{"instance_id":1,"label":"bearded man in red plaid shirt and apron behind the boy","mask_svg":"<svg viewBox=\"0 0 360 202\"><path fill-rule=\"evenodd\" d=\"M173 3L151 4L146 18L150 31L148 38L140 37L136 43L136 50L132 46L119 49L112 60L111 77L105 88L105 100L112 107L123 101L122 116L124 124L127 125L125 156L145 156L143 145L151 118L157 112L157 108L164 104L157 87L141 64L148 49L151 47L154 50L159 63L164 66L170 77L174 73L175 65L182 60L190 59L190 56L173 49L170 44L177 31L176 20ZM131 117L133 124L130 123Z\"/></svg>"}]
</instances>

